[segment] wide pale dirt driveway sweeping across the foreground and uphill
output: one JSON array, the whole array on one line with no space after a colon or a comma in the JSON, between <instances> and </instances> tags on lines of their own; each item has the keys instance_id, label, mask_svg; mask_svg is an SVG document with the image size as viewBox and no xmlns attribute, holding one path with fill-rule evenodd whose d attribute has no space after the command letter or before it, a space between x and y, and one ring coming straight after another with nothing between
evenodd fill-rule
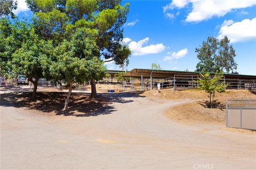
<instances>
[{"instance_id":1,"label":"wide pale dirt driveway sweeping across the foreground and uphill","mask_svg":"<svg viewBox=\"0 0 256 170\"><path fill-rule=\"evenodd\" d=\"M130 95L111 114L90 117L0 106L1 169L255 169L255 134L164 116L188 101Z\"/></svg>"}]
</instances>

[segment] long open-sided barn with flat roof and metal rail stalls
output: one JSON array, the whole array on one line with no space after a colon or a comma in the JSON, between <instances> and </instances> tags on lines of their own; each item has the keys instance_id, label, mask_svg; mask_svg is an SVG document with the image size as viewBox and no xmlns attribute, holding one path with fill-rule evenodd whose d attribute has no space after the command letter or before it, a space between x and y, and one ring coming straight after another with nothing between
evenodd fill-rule
<instances>
[{"instance_id":1,"label":"long open-sided barn with flat roof and metal rail stalls","mask_svg":"<svg viewBox=\"0 0 256 170\"><path fill-rule=\"evenodd\" d=\"M120 71L109 71L114 77ZM133 69L126 72L125 83L122 83L124 91L156 89L157 83L161 89L189 89L197 88L196 80L201 72L173 71L173 70L151 70ZM214 76L214 73L210 73ZM112 79L113 81L113 79ZM256 75L224 74L222 82L228 83L227 89L251 89L256 90ZM121 83L121 82L120 82Z\"/></svg>"}]
</instances>

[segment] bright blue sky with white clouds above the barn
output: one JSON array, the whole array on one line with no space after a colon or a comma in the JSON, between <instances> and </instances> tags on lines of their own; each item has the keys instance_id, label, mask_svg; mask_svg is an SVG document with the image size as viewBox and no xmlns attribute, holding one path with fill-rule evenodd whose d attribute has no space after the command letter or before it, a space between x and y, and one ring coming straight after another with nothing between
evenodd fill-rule
<instances>
[{"instance_id":1,"label":"bright blue sky with white clouds above the barn","mask_svg":"<svg viewBox=\"0 0 256 170\"><path fill-rule=\"evenodd\" d=\"M31 15L19 0L17 14ZM208 36L228 36L234 46L240 74L256 75L255 0L123 1L130 3L124 25L124 41L132 49L128 70L149 69L151 63L164 70L194 71L195 48ZM119 70L113 63L108 69Z\"/></svg>"}]
</instances>

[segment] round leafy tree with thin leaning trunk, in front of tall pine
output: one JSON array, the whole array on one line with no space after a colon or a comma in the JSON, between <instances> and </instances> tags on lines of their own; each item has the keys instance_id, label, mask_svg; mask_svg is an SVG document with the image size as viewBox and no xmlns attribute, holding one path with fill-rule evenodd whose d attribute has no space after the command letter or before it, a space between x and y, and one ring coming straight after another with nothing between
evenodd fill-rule
<instances>
[{"instance_id":1,"label":"round leafy tree with thin leaning trunk, in front of tall pine","mask_svg":"<svg viewBox=\"0 0 256 170\"><path fill-rule=\"evenodd\" d=\"M65 82L69 88L64 110L68 108L68 102L75 83L94 79L93 82L103 79L106 67L95 55L97 45L94 40L81 36L82 31L76 32L71 40L63 40L54 48L50 58L45 56L43 69L49 70L50 77L54 80ZM95 57L96 56L96 57Z\"/></svg>"}]
</instances>

